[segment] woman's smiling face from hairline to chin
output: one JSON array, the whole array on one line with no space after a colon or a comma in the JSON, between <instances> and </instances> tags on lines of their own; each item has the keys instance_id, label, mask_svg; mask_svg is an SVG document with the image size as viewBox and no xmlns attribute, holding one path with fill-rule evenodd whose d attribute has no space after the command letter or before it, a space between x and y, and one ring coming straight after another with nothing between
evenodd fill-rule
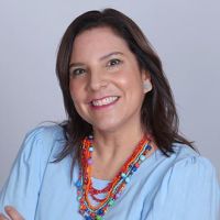
<instances>
[{"instance_id":1,"label":"woman's smiling face from hairline to chin","mask_svg":"<svg viewBox=\"0 0 220 220\"><path fill-rule=\"evenodd\" d=\"M148 75L110 28L95 28L75 38L69 77L75 108L94 129L111 132L141 123Z\"/></svg>"}]
</instances>

